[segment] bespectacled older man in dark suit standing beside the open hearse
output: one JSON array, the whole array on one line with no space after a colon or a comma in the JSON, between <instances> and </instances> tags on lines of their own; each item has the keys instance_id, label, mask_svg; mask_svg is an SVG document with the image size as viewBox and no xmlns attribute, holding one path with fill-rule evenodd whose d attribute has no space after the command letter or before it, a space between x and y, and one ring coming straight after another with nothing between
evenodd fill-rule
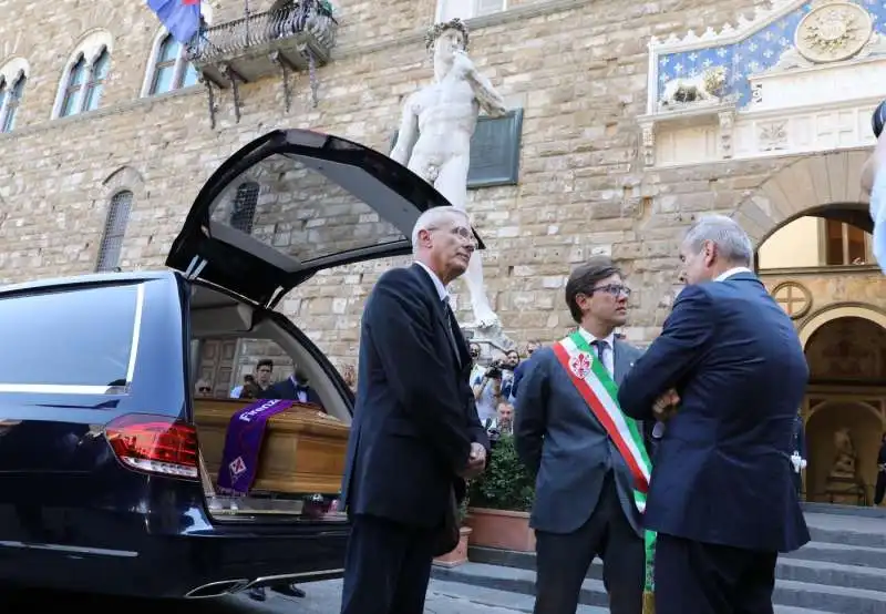
<instances>
[{"instance_id":1,"label":"bespectacled older man in dark suit standing beside the open hearse","mask_svg":"<svg viewBox=\"0 0 886 614\"><path fill-rule=\"evenodd\" d=\"M412 245L415 264L382 275L363 310L341 488L352 521L342 614L424 612L441 533L457 522L464 479L483 471L490 446L446 291L476 246L467 216L425 212Z\"/></svg>"}]
</instances>

